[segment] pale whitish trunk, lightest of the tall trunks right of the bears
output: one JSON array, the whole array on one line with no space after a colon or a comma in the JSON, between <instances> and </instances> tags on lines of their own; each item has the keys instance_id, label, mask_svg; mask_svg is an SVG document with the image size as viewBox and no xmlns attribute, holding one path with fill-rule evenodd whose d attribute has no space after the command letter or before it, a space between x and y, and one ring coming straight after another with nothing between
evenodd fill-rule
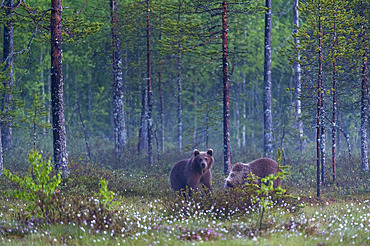
<instances>
[{"instance_id":1,"label":"pale whitish trunk, lightest of the tall trunks right of the bears","mask_svg":"<svg viewBox=\"0 0 370 246\"><path fill-rule=\"evenodd\" d=\"M299 0L294 0L293 6L293 22L294 22L294 29L293 32L298 35L298 27L299 27ZM303 135L303 122L302 122L302 109L301 109L301 64L298 62L301 59L299 48L299 39L297 36L294 36L294 46L297 52L296 60L294 61L294 82L295 82L295 99L294 99L294 107L295 107L295 124L296 129L298 130L299 134L299 146L301 152L306 149L307 142L304 139Z\"/></svg>"}]
</instances>

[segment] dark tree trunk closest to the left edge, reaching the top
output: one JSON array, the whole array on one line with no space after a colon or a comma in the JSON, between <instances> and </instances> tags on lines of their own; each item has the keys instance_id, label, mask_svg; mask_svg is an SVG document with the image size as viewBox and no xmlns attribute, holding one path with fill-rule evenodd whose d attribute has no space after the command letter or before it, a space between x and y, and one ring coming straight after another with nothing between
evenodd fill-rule
<instances>
[{"instance_id":1,"label":"dark tree trunk closest to the left edge, reaching the top","mask_svg":"<svg viewBox=\"0 0 370 246\"><path fill-rule=\"evenodd\" d=\"M13 14L13 0L5 0L4 6L6 7L5 15L6 18L12 18ZM7 81L4 83L4 86L8 88L8 91L5 93L2 102L2 110L9 112L12 110L11 101L13 99L12 87L13 87L13 38L14 38L14 26L13 21L8 20L4 24L4 43L3 43L3 62L5 62L4 71L7 72ZM2 132L3 132L3 147L5 149L13 148L13 129L12 129L12 119L10 116L7 116L5 122L2 122Z\"/></svg>"}]
</instances>

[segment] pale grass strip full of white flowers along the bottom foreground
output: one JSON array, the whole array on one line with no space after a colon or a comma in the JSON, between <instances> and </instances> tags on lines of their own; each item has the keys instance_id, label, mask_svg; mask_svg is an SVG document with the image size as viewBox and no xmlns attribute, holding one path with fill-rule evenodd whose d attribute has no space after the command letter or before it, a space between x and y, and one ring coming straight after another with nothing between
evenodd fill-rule
<instances>
[{"instance_id":1,"label":"pale grass strip full of white flowers along the bottom foreground","mask_svg":"<svg viewBox=\"0 0 370 246\"><path fill-rule=\"evenodd\" d=\"M330 201L310 204L291 214L276 209L266 217L268 229L259 236L253 213L213 219L211 214L197 216L166 216L157 209L160 200L147 202L141 211L131 200L122 211L133 220L124 233L103 230L96 232L89 225L41 225L20 232L20 225L4 222L1 217L3 245L369 245L369 200ZM135 219L135 220L134 220ZM2 230L8 230L4 233ZM11 233L13 230L14 233ZM17 231L18 230L18 231ZM5 235L4 235L5 234Z\"/></svg>"}]
</instances>

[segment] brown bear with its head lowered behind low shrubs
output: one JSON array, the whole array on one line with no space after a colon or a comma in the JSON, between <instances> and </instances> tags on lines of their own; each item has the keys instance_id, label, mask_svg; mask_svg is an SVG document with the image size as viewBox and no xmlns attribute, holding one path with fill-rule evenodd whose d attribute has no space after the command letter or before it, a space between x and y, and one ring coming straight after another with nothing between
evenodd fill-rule
<instances>
[{"instance_id":1,"label":"brown bear with its head lowered behind low shrubs","mask_svg":"<svg viewBox=\"0 0 370 246\"><path fill-rule=\"evenodd\" d=\"M225 179L224 188L234 188L235 186L244 184L247 182L249 173L258 176L258 183L261 183L261 178L267 177L270 174L276 175L278 172L281 172L278 163L269 158L260 158L247 164L238 162L233 166L229 176ZM281 183L281 179L276 179L274 181L274 188L280 186Z\"/></svg>"}]
</instances>

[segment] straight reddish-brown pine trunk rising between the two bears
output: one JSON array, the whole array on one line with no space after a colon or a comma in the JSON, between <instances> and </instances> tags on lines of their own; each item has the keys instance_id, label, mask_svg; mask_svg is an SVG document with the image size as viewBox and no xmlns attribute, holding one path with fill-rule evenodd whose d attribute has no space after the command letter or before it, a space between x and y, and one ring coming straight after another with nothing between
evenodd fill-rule
<instances>
[{"instance_id":1,"label":"straight reddish-brown pine trunk rising between the two bears","mask_svg":"<svg viewBox=\"0 0 370 246\"><path fill-rule=\"evenodd\" d=\"M222 80L223 80L223 121L224 121L224 173L231 170L230 147L230 105L229 105L229 51L227 43L227 1L222 2Z\"/></svg>"}]
</instances>

